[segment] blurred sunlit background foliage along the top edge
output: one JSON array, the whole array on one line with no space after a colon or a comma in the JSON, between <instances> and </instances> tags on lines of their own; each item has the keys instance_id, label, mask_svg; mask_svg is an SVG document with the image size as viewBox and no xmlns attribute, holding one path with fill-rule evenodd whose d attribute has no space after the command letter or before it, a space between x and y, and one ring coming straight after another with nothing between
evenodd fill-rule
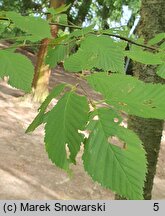
<instances>
[{"instance_id":1,"label":"blurred sunlit background foliage along the top edge","mask_svg":"<svg viewBox=\"0 0 165 216\"><path fill-rule=\"evenodd\" d=\"M76 25L97 23L99 27L109 28L113 22L121 23L123 15L129 13L127 25L131 27L138 15L140 0L66 0L69 21ZM49 6L48 0L0 0L0 10L12 10L22 15L43 15Z\"/></svg>"}]
</instances>

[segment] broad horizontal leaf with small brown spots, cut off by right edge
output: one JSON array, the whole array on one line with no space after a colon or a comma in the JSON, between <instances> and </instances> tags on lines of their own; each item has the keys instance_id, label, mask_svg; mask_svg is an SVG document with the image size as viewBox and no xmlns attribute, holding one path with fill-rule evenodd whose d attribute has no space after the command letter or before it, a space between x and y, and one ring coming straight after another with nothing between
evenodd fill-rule
<instances>
[{"instance_id":1,"label":"broad horizontal leaf with small brown spots, cut off by right edge","mask_svg":"<svg viewBox=\"0 0 165 216\"><path fill-rule=\"evenodd\" d=\"M106 103L131 115L165 119L165 86L144 83L131 76L99 73L88 77Z\"/></svg>"}]
</instances>

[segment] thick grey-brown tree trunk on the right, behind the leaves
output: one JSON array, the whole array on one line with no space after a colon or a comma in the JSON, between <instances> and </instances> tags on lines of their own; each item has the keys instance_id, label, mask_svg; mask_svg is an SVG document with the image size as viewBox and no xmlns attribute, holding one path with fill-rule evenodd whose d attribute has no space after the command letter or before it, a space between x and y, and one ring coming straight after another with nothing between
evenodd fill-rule
<instances>
[{"instance_id":1,"label":"thick grey-brown tree trunk on the right, behind the leaves","mask_svg":"<svg viewBox=\"0 0 165 216\"><path fill-rule=\"evenodd\" d=\"M143 37L145 42L147 42L161 32L165 32L164 0L142 0L141 20L137 28L138 36ZM156 75L155 66L134 63L133 74L147 83L164 83L164 80ZM152 198L153 180L160 150L163 121L130 116L128 127L137 133L147 153L148 173L144 186L144 199L150 200ZM121 199L121 197L119 198Z\"/></svg>"}]
</instances>

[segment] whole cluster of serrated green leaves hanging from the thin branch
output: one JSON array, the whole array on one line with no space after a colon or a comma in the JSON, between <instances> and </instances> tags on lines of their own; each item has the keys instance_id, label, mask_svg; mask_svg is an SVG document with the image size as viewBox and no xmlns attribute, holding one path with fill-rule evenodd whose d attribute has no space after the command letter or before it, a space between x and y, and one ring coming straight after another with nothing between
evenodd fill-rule
<instances>
[{"instance_id":1,"label":"whole cluster of serrated green leaves hanging from the thin branch","mask_svg":"<svg viewBox=\"0 0 165 216\"><path fill-rule=\"evenodd\" d=\"M22 17L16 12L7 12L6 18L26 33L23 40L51 39L49 23L40 17ZM44 124L48 156L68 172L70 164L76 163L80 146L84 145L84 169L93 180L128 199L143 199L146 155L138 136L123 127L122 113L164 119L165 86L146 84L126 76L124 58L158 65L158 75L164 77L164 33L156 35L147 45L135 40L127 51L126 39L121 33L112 33L105 35L90 26L51 40L46 63L55 67L63 61L68 72L82 76L84 70L92 71L83 78L101 94L102 101L91 100L86 94L79 95L79 83L76 86L58 85L39 108L27 132ZM158 47L158 44L161 45ZM31 90L33 66L26 57L15 53L14 48L1 50L0 64L1 77L9 76L10 84L25 92ZM52 99L57 97L57 104L48 110Z\"/></svg>"}]
</instances>

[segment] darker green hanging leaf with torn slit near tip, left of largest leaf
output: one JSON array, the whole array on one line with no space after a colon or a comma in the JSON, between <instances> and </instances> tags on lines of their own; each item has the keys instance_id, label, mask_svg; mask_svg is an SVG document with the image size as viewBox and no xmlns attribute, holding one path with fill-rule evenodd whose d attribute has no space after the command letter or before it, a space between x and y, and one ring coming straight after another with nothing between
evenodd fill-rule
<instances>
[{"instance_id":1,"label":"darker green hanging leaf with torn slit near tip, left of largest leaf","mask_svg":"<svg viewBox=\"0 0 165 216\"><path fill-rule=\"evenodd\" d=\"M49 112L45 126L45 144L49 158L58 167L69 170L69 163L75 163L83 141L78 130L84 130L88 111L86 98L69 92ZM66 146L69 148L69 156Z\"/></svg>"}]
</instances>

